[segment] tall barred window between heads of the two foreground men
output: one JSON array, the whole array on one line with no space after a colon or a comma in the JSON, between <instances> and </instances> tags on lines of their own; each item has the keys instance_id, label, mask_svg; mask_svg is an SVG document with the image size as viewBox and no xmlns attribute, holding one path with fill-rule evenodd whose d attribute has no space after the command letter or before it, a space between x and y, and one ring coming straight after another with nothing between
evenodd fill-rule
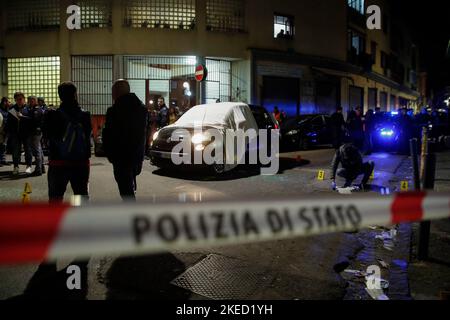
<instances>
[{"instance_id":1,"label":"tall barred window between heads of the two foreground men","mask_svg":"<svg viewBox=\"0 0 450 320\"><path fill-rule=\"evenodd\" d=\"M106 114L112 105L112 56L73 56L72 81L83 109L92 115Z\"/></svg>"}]
</instances>

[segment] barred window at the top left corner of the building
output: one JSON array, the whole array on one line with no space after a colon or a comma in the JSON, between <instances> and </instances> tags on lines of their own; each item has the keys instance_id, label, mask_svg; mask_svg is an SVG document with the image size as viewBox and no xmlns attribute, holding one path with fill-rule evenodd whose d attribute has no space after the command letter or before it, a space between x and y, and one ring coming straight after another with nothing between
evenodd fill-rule
<instances>
[{"instance_id":1,"label":"barred window at the top left corner of the building","mask_svg":"<svg viewBox=\"0 0 450 320\"><path fill-rule=\"evenodd\" d=\"M9 30L42 30L59 28L58 0L8 1L7 28Z\"/></svg>"}]
</instances>

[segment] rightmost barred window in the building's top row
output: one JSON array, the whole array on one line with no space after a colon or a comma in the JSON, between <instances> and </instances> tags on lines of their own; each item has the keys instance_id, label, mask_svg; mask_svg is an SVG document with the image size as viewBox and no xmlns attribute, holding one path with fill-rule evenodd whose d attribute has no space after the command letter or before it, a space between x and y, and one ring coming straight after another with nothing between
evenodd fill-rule
<instances>
[{"instance_id":1,"label":"rightmost barred window in the building's top row","mask_svg":"<svg viewBox=\"0 0 450 320\"><path fill-rule=\"evenodd\" d=\"M206 28L210 31L245 32L245 1L207 0Z\"/></svg>"}]
</instances>

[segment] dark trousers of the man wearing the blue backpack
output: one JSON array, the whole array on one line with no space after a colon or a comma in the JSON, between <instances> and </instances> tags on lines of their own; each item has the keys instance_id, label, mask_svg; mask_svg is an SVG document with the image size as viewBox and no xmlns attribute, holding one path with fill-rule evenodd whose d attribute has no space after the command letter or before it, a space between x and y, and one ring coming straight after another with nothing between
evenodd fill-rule
<instances>
[{"instance_id":1,"label":"dark trousers of the man wearing the blue backpack","mask_svg":"<svg viewBox=\"0 0 450 320\"><path fill-rule=\"evenodd\" d=\"M70 182L74 195L89 197L88 166L50 166L48 170L48 197L50 202L62 202Z\"/></svg>"}]
</instances>

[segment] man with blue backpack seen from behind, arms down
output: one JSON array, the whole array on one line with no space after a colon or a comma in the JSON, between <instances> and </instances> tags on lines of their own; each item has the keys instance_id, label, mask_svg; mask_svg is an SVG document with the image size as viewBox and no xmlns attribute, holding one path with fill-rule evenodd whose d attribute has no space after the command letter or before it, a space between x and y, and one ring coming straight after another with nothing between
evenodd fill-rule
<instances>
[{"instance_id":1,"label":"man with blue backpack seen from behind, arms down","mask_svg":"<svg viewBox=\"0 0 450 320\"><path fill-rule=\"evenodd\" d=\"M77 101L77 87L64 82L58 87L61 106L46 115L49 143L48 193L50 202L64 199L70 182L74 195L88 197L91 157L91 115Z\"/></svg>"}]
</instances>

